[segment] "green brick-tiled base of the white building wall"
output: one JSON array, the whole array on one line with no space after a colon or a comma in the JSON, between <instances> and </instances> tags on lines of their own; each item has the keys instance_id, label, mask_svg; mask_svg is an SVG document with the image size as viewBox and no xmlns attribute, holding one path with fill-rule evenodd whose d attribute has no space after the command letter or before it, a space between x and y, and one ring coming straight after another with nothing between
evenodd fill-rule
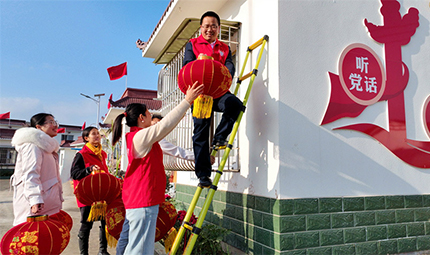
<instances>
[{"instance_id":1,"label":"green brick-tiled base of the white building wall","mask_svg":"<svg viewBox=\"0 0 430 255\"><path fill-rule=\"evenodd\" d=\"M188 207L196 187L176 186ZM194 213L198 216L208 190ZM277 200L217 191L206 222L248 254L392 254L430 250L430 195Z\"/></svg>"}]
</instances>

